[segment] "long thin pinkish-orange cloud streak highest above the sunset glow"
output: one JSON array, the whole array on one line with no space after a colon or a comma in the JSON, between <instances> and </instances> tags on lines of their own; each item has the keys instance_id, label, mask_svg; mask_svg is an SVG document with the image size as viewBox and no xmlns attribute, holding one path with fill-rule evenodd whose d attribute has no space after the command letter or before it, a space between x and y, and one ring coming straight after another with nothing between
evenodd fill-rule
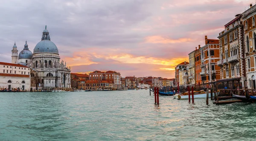
<instances>
[{"instance_id":1,"label":"long thin pinkish-orange cloud streak highest above the sunset glow","mask_svg":"<svg viewBox=\"0 0 256 141\"><path fill-rule=\"evenodd\" d=\"M145 37L146 43L184 43L192 41L190 38L168 39L161 36Z\"/></svg>"}]
</instances>

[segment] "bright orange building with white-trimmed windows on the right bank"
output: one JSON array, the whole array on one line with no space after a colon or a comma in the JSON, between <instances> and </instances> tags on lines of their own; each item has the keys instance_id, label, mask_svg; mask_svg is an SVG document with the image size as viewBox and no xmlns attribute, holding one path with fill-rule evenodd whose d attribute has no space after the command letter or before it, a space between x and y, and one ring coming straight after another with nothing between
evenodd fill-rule
<instances>
[{"instance_id":1,"label":"bright orange building with white-trimmed windows on the right bank","mask_svg":"<svg viewBox=\"0 0 256 141\"><path fill-rule=\"evenodd\" d=\"M219 57L219 40L208 39L205 36L205 46L199 49L201 53L201 78L202 83L217 81L221 78L220 67L217 62Z\"/></svg>"}]
</instances>

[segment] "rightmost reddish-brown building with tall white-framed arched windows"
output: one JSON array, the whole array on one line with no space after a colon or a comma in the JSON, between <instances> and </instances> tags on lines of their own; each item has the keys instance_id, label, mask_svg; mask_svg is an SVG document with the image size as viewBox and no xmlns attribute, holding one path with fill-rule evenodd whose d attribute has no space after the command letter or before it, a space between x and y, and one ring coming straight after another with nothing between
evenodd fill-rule
<instances>
[{"instance_id":1,"label":"rightmost reddish-brown building with tall white-framed arched windows","mask_svg":"<svg viewBox=\"0 0 256 141\"><path fill-rule=\"evenodd\" d=\"M256 5L250 4L250 9L242 13L244 21L244 58L246 63L247 87L256 89Z\"/></svg>"}]
</instances>

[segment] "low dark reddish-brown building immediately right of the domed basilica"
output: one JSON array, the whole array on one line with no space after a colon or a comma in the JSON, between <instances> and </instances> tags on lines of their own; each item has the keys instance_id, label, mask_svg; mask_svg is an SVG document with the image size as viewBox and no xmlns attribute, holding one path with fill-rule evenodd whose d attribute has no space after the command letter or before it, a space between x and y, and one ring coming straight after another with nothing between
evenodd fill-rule
<instances>
[{"instance_id":1,"label":"low dark reddish-brown building immediately right of the domed basilica","mask_svg":"<svg viewBox=\"0 0 256 141\"><path fill-rule=\"evenodd\" d=\"M80 73L70 73L71 77L71 87L72 88L78 88L79 83L81 83L81 80L84 82L89 80L89 75L87 74L80 74Z\"/></svg>"}]
</instances>

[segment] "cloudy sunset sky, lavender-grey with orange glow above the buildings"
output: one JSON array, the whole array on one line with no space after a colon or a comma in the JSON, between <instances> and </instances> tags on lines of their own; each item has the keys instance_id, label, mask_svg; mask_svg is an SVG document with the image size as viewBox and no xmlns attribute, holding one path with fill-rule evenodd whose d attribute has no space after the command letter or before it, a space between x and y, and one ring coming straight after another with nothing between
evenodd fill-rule
<instances>
[{"instance_id":1,"label":"cloudy sunset sky, lavender-grey with orange glow above the buildings","mask_svg":"<svg viewBox=\"0 0 256 141\"><path fill-rule=\"evenodd\" d=\"M4 0L0 4L0 61L41 41L45 25L72 72L113 70L122 77L174 78L204 36L255 0Z\"/></svg>"}]
</instances>

